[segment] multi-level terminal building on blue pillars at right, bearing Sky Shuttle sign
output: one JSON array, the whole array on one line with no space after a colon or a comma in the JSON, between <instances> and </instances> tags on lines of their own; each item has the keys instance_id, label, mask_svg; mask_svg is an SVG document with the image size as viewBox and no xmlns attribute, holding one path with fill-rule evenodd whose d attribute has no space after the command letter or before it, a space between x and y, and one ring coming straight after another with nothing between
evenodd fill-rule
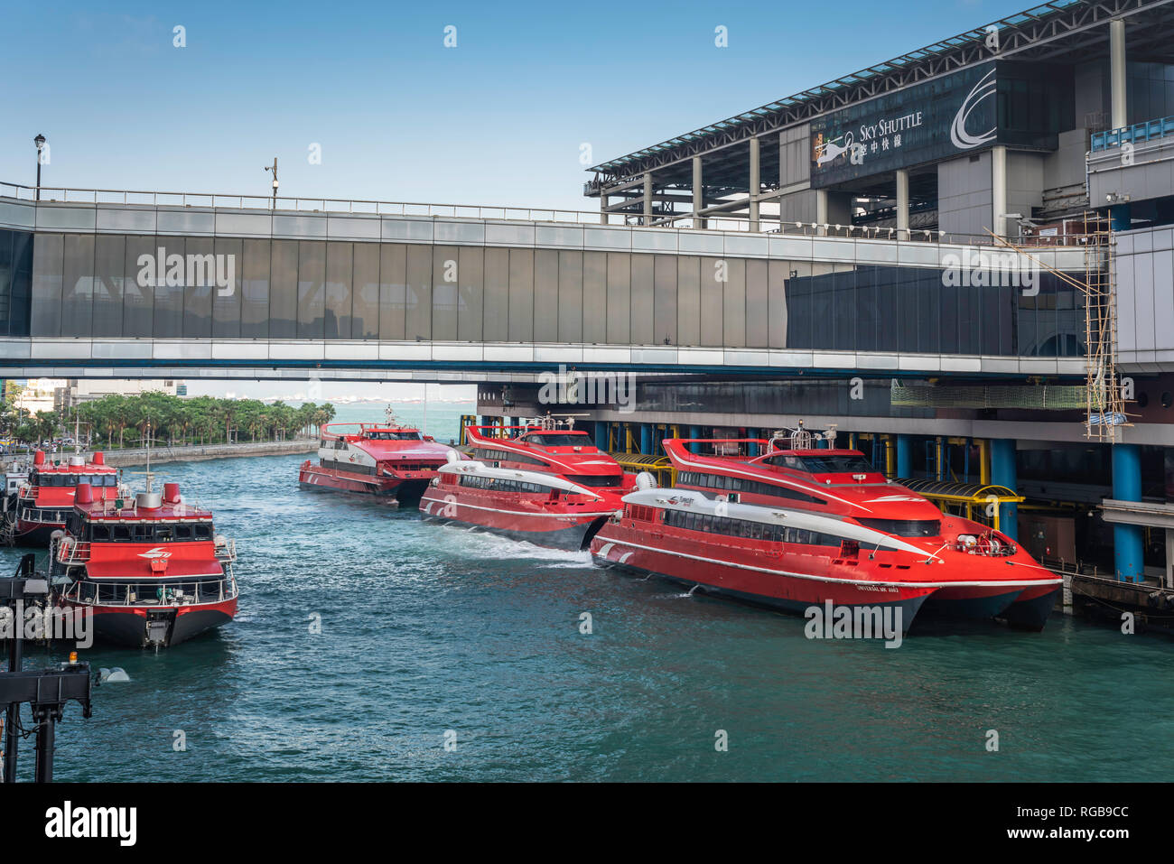
<instances>
[{"instance_id":1,"label":"multi-level terminal building on blue pillars at right, bearing Sky Shuttle sign","mask_svg":"<svg viewBox=\"0 0 1174 864\"><path fill-rule=\"evenodd\" d=\"M666 426L762 434L799 414L837 423L841 440L939 492L944 506L973 514L990 485L1010 487L1021 501L1001 506L1001 527L1040 558L1174 588L1168 4L1046 4L591 171L583 191L605 222L859 238L845 266L784 279L798 325L790 347L1088 362L1084 394L1062 376L911 383L864 367L853 370L857 399L826 378L649 383L636 399L653 425L650 443L640 430L641 451L655 452ZM969 306L970 291L936 272L879 262L871 242L897 241L882 252L897 256L919 238L1031 255L1100 249L1105 224L1100 274L1086 261L1071 283L1040 274L1038 292L971 289L1006 291L990 306ZM1098 403L1089 391L1109 370L1121 390L1102 389Z\"/></svg>"}]
</instances>

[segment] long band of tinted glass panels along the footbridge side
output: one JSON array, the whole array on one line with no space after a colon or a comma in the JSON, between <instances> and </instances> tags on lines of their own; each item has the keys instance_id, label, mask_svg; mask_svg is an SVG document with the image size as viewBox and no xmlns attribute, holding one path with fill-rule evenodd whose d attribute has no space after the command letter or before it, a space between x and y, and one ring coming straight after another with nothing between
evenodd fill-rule
<instances>
[{"instance_id":1,"label":"long band of tinted glass panels along the footbridge side","mask_svg":"<svg viewBox=\"0 0 1174 864\"><path fill-rule=\"evenodd\" d=\"M1027 296L811 259L0 231L0 329L1079 356L1081 295L1039 278Z\"/></svg>"}]
</instances>

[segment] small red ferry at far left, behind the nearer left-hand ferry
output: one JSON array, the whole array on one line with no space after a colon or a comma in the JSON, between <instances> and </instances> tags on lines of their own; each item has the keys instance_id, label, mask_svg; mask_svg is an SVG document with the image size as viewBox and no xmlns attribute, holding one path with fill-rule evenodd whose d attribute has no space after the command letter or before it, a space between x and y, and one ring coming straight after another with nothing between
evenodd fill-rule
<instances>
[{"instance_id":1,"label":"small red ferry at far left, behind the nearer left-hand ferry","mask_svg":"<svg viewBox=\"0 0 1174 864\"><path fill-rule=\"evenodd\" d=\"M101 453L94 453L90 461L70 455L62 464L49 463L45 451L36 451L27 482L8 501L5 532L9 542L48 546L53 532L66 527L74 493L82 482L90 486L92 495L113 500L117 495L119 473L106 464Z\"/></svg>"}]
</instances>

